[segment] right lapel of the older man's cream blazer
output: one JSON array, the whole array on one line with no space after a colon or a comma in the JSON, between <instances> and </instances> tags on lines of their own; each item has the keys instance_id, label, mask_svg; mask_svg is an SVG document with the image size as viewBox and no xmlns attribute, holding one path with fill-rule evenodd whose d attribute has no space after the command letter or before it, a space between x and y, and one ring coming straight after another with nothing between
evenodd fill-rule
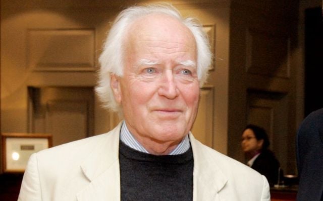
<instances>
[{"instance_id":1,"label":"right lapel of the older man's cream blazer","mask_svg":"<svg viewBox=\"0 0 323 201\"><path fill-rule=\"evenodd\" d=\"M189 137L194 157L193 201L223 201L218 193L224 188L228 178L217 166L220 161L214 161L208 154L208 148L202 147L191 133Z\"/></svg>"}]
</instances>

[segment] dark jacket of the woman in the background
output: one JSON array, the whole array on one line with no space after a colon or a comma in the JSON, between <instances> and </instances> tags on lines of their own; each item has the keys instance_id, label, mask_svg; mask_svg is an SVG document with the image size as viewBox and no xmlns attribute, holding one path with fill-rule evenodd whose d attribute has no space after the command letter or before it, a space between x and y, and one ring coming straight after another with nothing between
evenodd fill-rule
<instances>
[{"instance_id":1,"label":"dark jacket of the woman in the background","mask_svg":"<svg viewBox=\"0 0 323 201\"><path fill-rule=\"evenodd\" d=\"M274 153L268 149L263 150L251 166L267 178L270 186L277 184L279 167L279 161Z\"/></svg>"}]
</instances>

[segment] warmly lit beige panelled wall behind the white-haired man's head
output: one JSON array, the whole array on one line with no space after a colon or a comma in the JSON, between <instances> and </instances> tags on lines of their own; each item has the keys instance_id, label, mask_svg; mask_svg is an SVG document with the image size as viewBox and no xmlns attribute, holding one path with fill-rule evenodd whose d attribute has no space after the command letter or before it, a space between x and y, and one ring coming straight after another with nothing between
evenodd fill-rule
<instances>
[{"instance_id":1,"label":"warmly lit beige panelled wall behind the white-haired man's head","mask_svg":"<svg viewBox=\"0 0 323 201\"><path fill-rule=\"evenodd\" d=\"M18 1L16 3L3 1L1 43L3 132L32 131L28 119L30 116L28 114L28 86L95 85L97 57L102 41L109 29L109 22L113 20L122 6L131 4L129 1L127 4L125 2L120 4L115 1L96 2L82 5L82 3L74 4L74 1L62 1L59 4L33 3L32 1L19 4ZM213 78L205 86L212 90L212 96L208 95L207 103L213 104L213 100L217 97L214 110L218 112L212 113L214 125L211 125L211 133L214 133L214 138L217 140L212 140L210 146L226 153L229 3L207 1L172 1L172 3L178 6L184 16L198 17L203 25L212 27L212 34L216 37L213 39L213 43L216 43L214 48L217 53L216 68L210 72ZM87 33L84 33L84 30ZM76 47L78 52L74 54L73 48L60 49L59 45L48 42L57 39L62 44L73 45L68 34L75 36L78 34L77 31L82 32L83 40L92 40L90 44L93 43L94 51L88 45L85 48ZM56 36L56 32L59 36ZM48 35L50 35L49 38ZM43 40L45 42L42 42ZM59 54L62 51L65 54ZM84 59L81 56L89 54L93 54L94 57ZM115 123L115 121L110 121L109 115L99 108L99 103L96 101L94 134L109 130L112 125L107 122ZM209 118L206 119L209 120Z\"/></svg>"}]
</instances>

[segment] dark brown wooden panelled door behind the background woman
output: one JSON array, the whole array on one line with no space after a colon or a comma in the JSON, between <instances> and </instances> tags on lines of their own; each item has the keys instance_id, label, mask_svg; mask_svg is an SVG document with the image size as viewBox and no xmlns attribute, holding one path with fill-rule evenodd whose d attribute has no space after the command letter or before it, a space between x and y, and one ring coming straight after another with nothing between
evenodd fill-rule
<instances>
[{"instance_id":1,"label":"dark brown wooden panelled door behind the background woman","mask_svg":"<svg viewBox=\"0 0 323 201\"><path fill-rule=\"evenodd\" d=\"M240 138L265 128L285 173L295 174L298 4L233 1L230 18L228 155L244 161Z\"/></svg>"}]
</instances>

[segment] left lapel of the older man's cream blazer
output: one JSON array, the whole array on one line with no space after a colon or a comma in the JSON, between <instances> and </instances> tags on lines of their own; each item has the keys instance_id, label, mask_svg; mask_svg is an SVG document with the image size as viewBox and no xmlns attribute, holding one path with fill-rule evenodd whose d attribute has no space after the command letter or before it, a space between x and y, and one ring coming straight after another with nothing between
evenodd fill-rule
<instances>
[{"instance_id":1,"label":"left lapel of the older man's cream blazer","mask_svg":"<svg viewBox=\"0 0 323 201\"><path fill-rule=\"evenodd\" d=\"M89 185L77 193L77 200L120 200L119 133L121 123L97 142L81 165Z\"/></svg>"}]
</instances>

